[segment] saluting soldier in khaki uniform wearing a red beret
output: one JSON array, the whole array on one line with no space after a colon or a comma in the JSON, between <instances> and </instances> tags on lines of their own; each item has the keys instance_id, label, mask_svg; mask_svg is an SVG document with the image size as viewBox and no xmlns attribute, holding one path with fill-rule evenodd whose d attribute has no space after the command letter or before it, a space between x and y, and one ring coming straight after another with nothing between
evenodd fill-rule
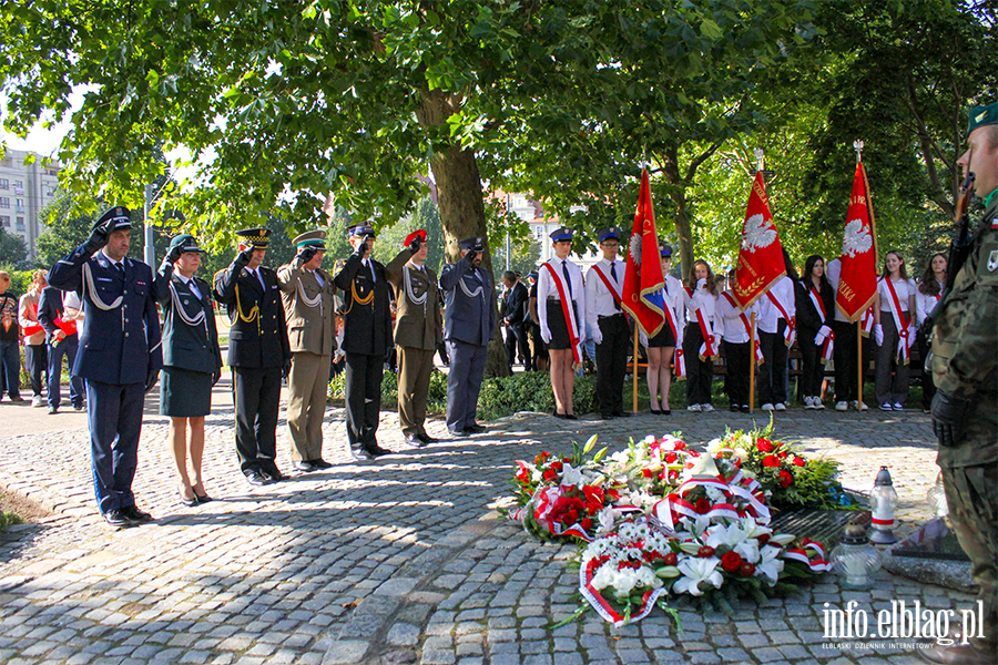
<instances>
[{"instance_id":1,"label":"saluting soldier in khaki uniform wearing a red beret","mask_svg":"<svg viewBox=\"0 0 998 665\"><path fill-rule=\"evenodd\" d=\"M416 237L420 238L420 244L425 244L426 231L414 232L406 238L407 248L385 266L385 274L395 287L395 301L398 306L395 317L398 421L406 441L418 448L434 441L427 434L424 423L430 375L434 371L434 354L437 345L444 340L444 326L437 275L411 260L415 253L409 247ZM419 244L416 247L418 252Z\"/></svg>"}]
</instances>

